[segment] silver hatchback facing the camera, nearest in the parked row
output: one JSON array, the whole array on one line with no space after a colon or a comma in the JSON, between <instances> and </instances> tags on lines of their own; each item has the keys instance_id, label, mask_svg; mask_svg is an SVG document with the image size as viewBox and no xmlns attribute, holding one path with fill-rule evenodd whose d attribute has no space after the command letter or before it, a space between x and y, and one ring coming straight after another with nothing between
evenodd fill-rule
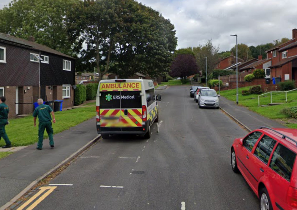
<instances>
[{"instance_id":1,"label":"silver hatchback facing the camera, nearest in the parked row","mask_svg":"<svg viewBox=\"0 0 297 210\"><path fill-rule=\"evenodd\" d=\"M198 98L199 108L213 107L219 109L219 97L214 89L201 90Z\"/></svg>"}]
</instances>

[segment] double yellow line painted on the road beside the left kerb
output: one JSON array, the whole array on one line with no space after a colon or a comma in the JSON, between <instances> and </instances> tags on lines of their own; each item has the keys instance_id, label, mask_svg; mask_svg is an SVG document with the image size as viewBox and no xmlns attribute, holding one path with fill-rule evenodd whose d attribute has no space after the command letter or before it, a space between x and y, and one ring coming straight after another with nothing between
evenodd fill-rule
<instances>
[{"instance_id":1,"label":"double yellow line painted on the road beside the left kerb","mask_svg":"<svg viewBox=\"0 0 297 210\"><path fill-rule=\"evenodd\" d=\"M40 195L40 198L38 198L34 203L32 203L26 210L32 210L34 209L41 201L43 201L50 193L52 193L57 187L40 187L40 191L37 192L34 196L32 196L26 203L24 203L22 206L20 206L17 210L22 210L26 208L30 203L32 203L36 198L38 198ZM45 192L45 193L44 193ZM44 193L44 194L43 194Z\"/></svg>"}]
</instances>

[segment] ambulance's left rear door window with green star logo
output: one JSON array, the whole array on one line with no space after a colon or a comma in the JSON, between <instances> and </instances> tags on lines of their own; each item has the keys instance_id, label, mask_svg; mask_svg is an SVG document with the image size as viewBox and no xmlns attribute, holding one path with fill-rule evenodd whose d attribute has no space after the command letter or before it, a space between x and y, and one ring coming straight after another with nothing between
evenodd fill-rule
<instances>
[{"instance_id":1,"label":"ambulance's left rear door window with green star logo","mask_svg":"<svg viewBox=\"0 0 297 210\"><path fill-rule=\"evenodd\" d=\"M100 92L100 109L120 109L121 108L121 92L108 91Z\"/></svg>"}]
</instances>

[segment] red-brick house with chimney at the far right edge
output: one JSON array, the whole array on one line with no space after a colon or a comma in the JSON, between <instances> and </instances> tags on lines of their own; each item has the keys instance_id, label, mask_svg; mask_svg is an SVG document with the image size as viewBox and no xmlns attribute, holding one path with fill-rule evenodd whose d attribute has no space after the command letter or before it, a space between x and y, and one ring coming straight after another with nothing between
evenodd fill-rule
<instances>
[{"instance_id":1,"label":"red-brick house with chimney at the far right edge","mask_svg":"<svg viewBox=\"0 0 297 210\"><path fill-rule=\"evenodd\" d=\"M271 77L284 80L297 80L297 29L292 31L292 39L266 51L271 59Z\"/></svg>"}]
</instances>

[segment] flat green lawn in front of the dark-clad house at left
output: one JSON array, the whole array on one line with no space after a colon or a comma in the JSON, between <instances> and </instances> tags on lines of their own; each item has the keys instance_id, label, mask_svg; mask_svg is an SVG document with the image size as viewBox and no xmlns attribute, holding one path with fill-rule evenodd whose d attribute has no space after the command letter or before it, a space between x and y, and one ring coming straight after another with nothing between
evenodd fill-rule
<instances>
[{"instance_id":1,"label":"flat green lawn in front of the dark-clad house at left","mask_svg":"<svg viewBox=\"0 0 297 210\"><path fill-rule=\"evenodd\" d=\"M56 123L53 123L54 134L68 130L69 128L78 125L86 120L96 116L94 107L81 107L62 112L56 112ZM5 127L6 133L12 142L13 147L27 146L38 141L38 123L33 125L33 117L28 116L19 119L9 120L10 124ZM47 133L44 133L44 138L48 138ZM0 146L3 146L4 141L0 141Z\"/></svg>"}]
</instances>

